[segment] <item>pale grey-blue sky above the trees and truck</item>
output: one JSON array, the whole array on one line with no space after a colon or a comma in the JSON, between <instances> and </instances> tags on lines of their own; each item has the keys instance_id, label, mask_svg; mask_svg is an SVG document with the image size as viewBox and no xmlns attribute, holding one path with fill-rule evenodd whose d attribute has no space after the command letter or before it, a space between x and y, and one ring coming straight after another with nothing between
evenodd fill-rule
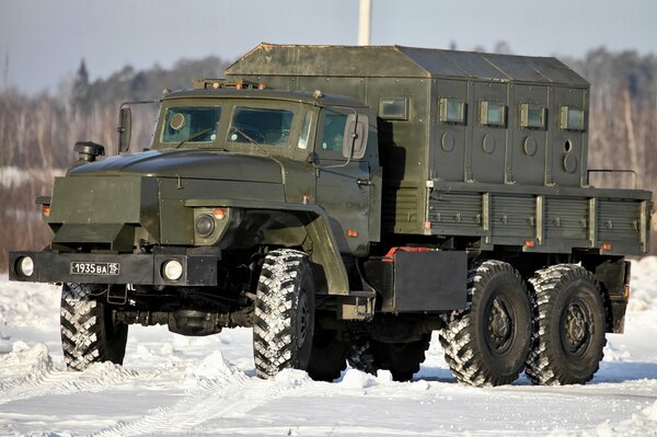
<instances>
[{"instance_id":1,"label":"pale grey-blue sky above the trees and truck","mask_svg":"<svg viewBox=\"0 0 657 437\"><path fill-rule=\"evenodd\" d=\"M657 53L656 0L372 0L372 44L521 55ZM357 44L358 0L0 0L0 90L48 89L87 60L94 80L126 64L235 59L260 42Z\"/></svg>"}]
</instances>

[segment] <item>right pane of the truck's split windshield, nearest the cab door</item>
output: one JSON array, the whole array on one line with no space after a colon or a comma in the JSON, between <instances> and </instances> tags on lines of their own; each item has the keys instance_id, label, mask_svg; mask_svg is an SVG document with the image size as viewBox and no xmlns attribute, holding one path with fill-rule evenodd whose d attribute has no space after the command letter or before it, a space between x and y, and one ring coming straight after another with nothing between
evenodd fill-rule
<instances>
[{"instance_id":1,"label":"right pane of the truck's split windshield, nearest the cab door","mask_svg":"<svg viewBox=\"0 0 657 437\"><path fill-rule=\"evenodd\" d=\"M235 107L228 131L230 142L286 145L293 113L286 110Z\"/></svg>"}]
</instances>

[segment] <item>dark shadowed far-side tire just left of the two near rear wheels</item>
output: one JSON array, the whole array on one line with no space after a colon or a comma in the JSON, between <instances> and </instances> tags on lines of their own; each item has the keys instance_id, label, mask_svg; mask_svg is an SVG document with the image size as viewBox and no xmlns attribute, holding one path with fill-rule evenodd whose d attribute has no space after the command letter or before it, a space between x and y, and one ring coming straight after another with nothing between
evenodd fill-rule
<instances>
[{"instance_id":1,"label":"dark shadowed far-side tire just left of the two near rear wheels","mask_svg":"<svg viewBox=\"0 0 657 437\"><path fill-rule=\"evenodd\" d=\"M413 375L419 371L419 365L425 359L429 348L431 335L425 334L422 340L407 343L372 342L374 366L390 370L395 381L410 381Z\"/></svg>"}]
</instances>

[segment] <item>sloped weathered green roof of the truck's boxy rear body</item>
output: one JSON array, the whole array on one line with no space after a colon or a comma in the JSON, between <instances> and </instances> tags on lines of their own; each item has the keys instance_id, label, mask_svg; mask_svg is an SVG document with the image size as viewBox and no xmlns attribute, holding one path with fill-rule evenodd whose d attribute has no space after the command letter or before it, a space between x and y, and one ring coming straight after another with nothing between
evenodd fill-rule
<instances>
[{"instance_id":1,"label":"sloped weathered green roof of the truck's boxy rear body","mask_svg":"<svg viewBox=\"0 0 657 437\"><path fill-rule=\"evenodd\" d=\"M301 46L263 43L230 66L226 73L370 78L450 77L588 88L584 78L551 57L403 46Z\"/></svg>"}]
</instances>

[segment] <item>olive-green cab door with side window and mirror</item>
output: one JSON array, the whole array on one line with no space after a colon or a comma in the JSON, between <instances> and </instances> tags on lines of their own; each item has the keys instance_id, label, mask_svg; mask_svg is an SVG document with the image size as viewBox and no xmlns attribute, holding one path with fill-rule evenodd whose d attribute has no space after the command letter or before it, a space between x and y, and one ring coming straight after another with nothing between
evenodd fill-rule
<instances>
[{"instance_id":1,"label":"olive-green cab door with side window and mirror","mask_svg":"<svg viewBox=\"0 0 657 437\"><path fill-rule=\"evenodd\" d=\"M365 153L353 148L358 142L355 137L365 141L361 148L367 146L367 130L366 115L349 108L324 108L314 146L316 204L330 217L339 251L356 256L368 253L370 241L370 165Z\"/></svg>"}]
</instances>

